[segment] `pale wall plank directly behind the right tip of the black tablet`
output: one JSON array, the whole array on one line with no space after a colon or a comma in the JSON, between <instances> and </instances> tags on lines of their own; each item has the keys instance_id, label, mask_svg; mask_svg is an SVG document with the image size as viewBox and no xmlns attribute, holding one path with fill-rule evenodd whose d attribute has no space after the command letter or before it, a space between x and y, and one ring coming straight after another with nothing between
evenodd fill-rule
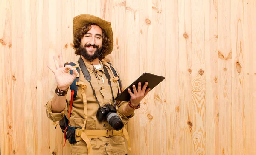
<instances>
[{"instance_id":1,"label":"pale wall plank directly behind the right tip of the black tablet","mask_svg":"<svg viewBox=\"0 0 256 155\"><path fill-rule=\"evenodd\" d=\"M150 54L153 57L151 66L154 68L152 73L166 76L169 70L166 66L166 25L165 25L165 2L162 0L152 0L152 31L153 31L153 52ZM157 37L156 37L157 36ZM152 155L166 155L166 79L163 80L151 92L151 100L149 103L151 115L153 116L151 132L151 144L149 147L159 148L153 149ZM153 98L152 98L153 97ZM154 103L154 104L153 104ZM150 137L148 137L150 138Z\"/></svg>"}]
</instances>

